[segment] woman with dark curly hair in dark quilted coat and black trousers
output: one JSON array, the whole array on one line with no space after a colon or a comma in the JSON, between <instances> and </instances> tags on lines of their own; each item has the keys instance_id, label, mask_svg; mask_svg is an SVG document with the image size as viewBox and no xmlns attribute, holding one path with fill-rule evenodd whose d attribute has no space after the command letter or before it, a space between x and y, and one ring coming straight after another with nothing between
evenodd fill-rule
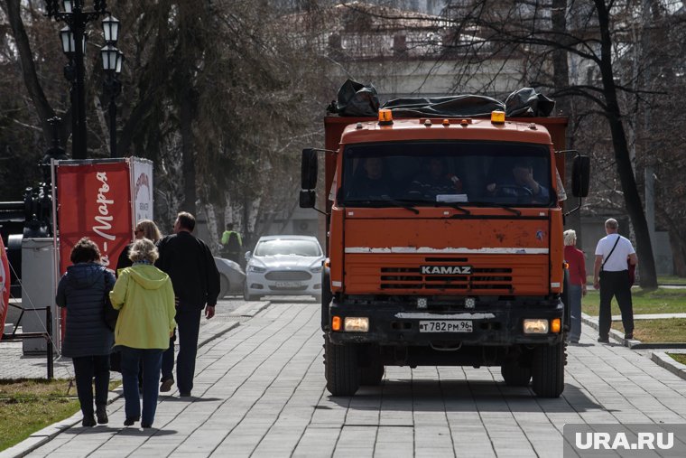
<instances>
[{"instance_id":1,"label":"woman with dark curly hair in dark quilted coat and black trousers","mask_svg":"<svg viewBox=\"0 0 686 458\"><path fill-rule=\"evenodd\" d=\"M99 264L100 250L88 238L81 238L71 249L73 266L60 278L56 302L67 308L67 323L62 355L74 363L76 389L84 426L95 426L93 417L93 378L96 379L97 423L107 424L109 391L109 352L114 335L105 322L105 297L115 285L114 274Z\"/></svg>"}]
</instances>

